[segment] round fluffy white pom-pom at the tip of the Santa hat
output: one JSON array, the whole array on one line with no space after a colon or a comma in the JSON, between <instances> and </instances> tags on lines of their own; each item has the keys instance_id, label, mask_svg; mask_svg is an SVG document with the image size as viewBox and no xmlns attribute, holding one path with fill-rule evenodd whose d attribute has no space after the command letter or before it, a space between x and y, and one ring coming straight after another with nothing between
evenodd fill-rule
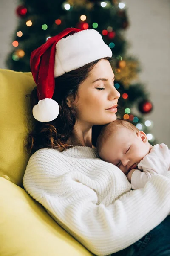
<instances>
[{"instance_id":1,"label":"round fluffy white pom-pom at the tip of the Santa hat","mask_svg":"<svg viewBox=\"0 0 170 256\"><path fill-rule=\"evenodd\" d=\"M39 122L50 122L57 118L59 105L54 99L45 98L39 100L32 110L34 118Z\"/></svg>"}]
</instances>

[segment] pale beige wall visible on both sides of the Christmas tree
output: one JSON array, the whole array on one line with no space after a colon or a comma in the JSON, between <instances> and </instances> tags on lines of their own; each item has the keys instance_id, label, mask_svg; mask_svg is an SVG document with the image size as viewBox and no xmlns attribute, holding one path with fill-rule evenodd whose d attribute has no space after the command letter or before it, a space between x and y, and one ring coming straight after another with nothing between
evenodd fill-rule
<instances>
[{"instance_id":1,"label":"pale beige wall visible on both sides of the Christmas tree","mask_svg":"<svg viewBox=\"0 0 170 256\"><path fill-rule=\"evenodd\" d=\"M124 1L122 1L124 2ZM145 116L152 120L152 133L158 143L170 148L170 0L126 0L130 27L126 38L130 55L139 58L139 78L147 84L154 110ZM0 68L10 49L17 25L17 0L0 0ZM137 113L137 111L136 111Z\"/></svg>"}]
</instances>

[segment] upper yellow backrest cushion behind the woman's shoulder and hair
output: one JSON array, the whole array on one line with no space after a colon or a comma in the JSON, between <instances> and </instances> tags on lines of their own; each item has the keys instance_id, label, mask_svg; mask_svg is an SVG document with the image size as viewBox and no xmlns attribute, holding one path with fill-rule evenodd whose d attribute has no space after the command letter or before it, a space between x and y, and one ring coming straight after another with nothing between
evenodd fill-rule
<instances>
[{"instance_id":1,"label":"upper yellow backrest cushion behind the woman's shoulder and hair","mask_svg":"<svg viewBox=\"0 0 170 256\"><path fill-rule=\"evenodd\" d=\"M35 86L31 72L0 69L0 176L7 175L19 186L30 157L23 143L28 131L25 95Z\"/></svg>"}]
</instances>

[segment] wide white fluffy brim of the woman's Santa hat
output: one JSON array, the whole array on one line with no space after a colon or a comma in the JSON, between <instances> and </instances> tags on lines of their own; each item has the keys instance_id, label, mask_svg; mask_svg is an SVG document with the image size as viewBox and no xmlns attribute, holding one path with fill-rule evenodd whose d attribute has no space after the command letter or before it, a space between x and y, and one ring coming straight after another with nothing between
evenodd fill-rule
<instances>
[{"instance_id":1,"label":"wide white fluffy brim of the woman's Santa hat","mask_svg":"<svg viewBox=\"0 0 170 256\"><path fill-rule=\"evenodd\" d=\"M112 57L112 51L95 29L68 35L56 44L54 77L105 57Z\"/></svg>"}]
</instances>

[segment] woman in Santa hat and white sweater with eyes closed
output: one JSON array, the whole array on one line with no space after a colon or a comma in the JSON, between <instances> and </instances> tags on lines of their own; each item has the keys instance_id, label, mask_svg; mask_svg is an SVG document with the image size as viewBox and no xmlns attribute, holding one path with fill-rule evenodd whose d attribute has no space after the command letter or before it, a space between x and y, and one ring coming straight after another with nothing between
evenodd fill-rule
<instances>
[{"instance_id":1,"label":"woman in Santa hat and white sweater with eyes closed","mask_svg":"<svg viewBox=\"0 0 170 256\"><path fill-rule=\"evenodd\" d=\"M23 185L96 255L167 256L170 172L133 191L121 170L99 159L92 145L92 127L116 120L120 94L111 55L93 29L65 29L31 54L37 121L28 136L34 154Z\"/></svg>"}]
</instances>

